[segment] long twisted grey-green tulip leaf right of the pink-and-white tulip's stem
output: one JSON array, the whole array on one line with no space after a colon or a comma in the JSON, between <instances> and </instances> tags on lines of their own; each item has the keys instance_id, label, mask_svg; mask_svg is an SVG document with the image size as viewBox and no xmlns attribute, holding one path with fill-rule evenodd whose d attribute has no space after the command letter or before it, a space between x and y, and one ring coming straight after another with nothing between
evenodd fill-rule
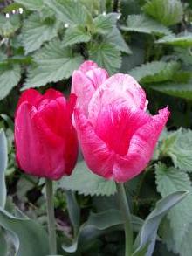
<instances>
[{"instance_id":1,"label":"long twisted grey-green tulip leaf right of the pink-and-white tulip's stem","mask_svg":"<svg viewBox=\"0 0 192 256\"><path fill-rule=\"evenodd\" d=\"M157 235L157 229L161 223L161 219L170 211L175 204L178 204L183 198L187 196L186 190L177 190L171 194L168 194L167 197L162 198L156 203L154 210L148 215L144 224L141 227L141 232L139 233L136 244L138 244L135 249L133 256L136 255L147 255L151 256L154 252L154 245ZM147 250L146 250L147 246ZM140 253L147 253L140 254Z\"/></svg>"}]
</instances>

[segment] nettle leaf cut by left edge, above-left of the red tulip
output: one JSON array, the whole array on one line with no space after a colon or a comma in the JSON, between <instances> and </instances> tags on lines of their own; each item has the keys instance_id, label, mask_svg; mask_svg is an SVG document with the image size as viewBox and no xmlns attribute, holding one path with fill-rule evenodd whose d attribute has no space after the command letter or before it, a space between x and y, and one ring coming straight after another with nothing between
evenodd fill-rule
<instances>
[{"instance_id":1,"label":"nettle leaf cut by left edge, above-left of the red tulip","mask_svg":"<svg viewBox=\"0 0 192 256\"><path fill-rule=\"evenodd\" d=\"M0 66L0 100L5 98L21 79L19 65Z\"/></svg>"}]
</instances>

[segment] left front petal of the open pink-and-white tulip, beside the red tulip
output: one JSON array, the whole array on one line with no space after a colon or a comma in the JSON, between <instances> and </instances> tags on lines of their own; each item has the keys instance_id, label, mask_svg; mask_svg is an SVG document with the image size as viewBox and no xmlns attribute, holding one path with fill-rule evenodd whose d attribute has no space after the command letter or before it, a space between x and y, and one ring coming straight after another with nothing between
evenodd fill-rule
<instances>
[{"instance_id":1,"label":"left front petal of the open pink-and-white tulip, beside the red tulip","mask_svg":"<svg viewBox=\"0 0 192 256\"><path fill-rule=\"evenodd\" d=\"M111 178L115 156L113 151L95 134L92 124L77 108L74 110L74 118L87 166L99 176Z\"/></svg>"}]
</instances>

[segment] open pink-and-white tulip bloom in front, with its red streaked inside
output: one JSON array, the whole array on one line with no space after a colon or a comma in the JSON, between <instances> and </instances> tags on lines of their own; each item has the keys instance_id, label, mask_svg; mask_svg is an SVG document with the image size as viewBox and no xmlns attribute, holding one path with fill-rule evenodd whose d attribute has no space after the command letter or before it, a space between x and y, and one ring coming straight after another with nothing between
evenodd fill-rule
<instances>
[{"instance_id":1,"label":"open pink-and-white tulip bloom in front, with its red streaked inside","mask_svg":"<svg viewBox=\"0 0 192 256\"><path fill-rule=\"evenodd\" d=\"M129 75L115 74L93 93L87 108L86 115L76 107L74 119L90 170L116 182L141 173L168 121L168 107L147 114L141 86Z\"/></svg>"}]
</instances>

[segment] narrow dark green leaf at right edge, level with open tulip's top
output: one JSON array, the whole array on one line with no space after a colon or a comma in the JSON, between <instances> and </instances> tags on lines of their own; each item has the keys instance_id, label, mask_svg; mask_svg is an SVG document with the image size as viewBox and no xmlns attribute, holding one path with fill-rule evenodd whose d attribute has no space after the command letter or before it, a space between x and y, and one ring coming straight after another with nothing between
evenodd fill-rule
<instances>
[{"instance_id":1,"label":"narrow dark green leaf at right edge, level with open tulip's top","mask_svg":"<svg viewBox=\"0 0 192 256\"><path fill-rule=\"evenodd\" d=\"M187 84L165 83L150 87L161 93L166 93L185 100L192 100L192 81L189 81Z\"/></svg>"}]
</instances>

